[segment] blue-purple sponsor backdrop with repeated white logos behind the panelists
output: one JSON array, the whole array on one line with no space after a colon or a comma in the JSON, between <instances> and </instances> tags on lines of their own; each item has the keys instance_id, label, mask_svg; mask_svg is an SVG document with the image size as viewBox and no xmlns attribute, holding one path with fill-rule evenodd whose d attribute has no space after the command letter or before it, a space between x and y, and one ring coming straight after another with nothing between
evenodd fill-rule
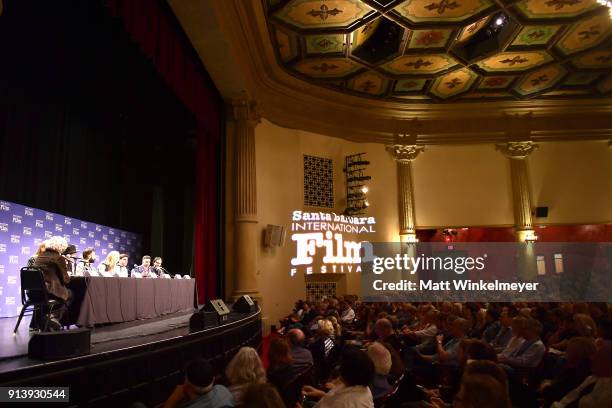
<instances>
[{"instance_id":1,"label":"blue-purple sponsor backdrop with repeated white logos behind the panelists","mask_svg":"<svg viewBox=\"0 0 612 408\"><path fill-rule=\"evenodd\" d=\"M0 317L21 311L19 269L36 253L42 241L55 235L66 238L80 253L96 250L98 262L110 251L140 258L142 239L134 233L0 200Z\"/></svg>"}]
</instances>

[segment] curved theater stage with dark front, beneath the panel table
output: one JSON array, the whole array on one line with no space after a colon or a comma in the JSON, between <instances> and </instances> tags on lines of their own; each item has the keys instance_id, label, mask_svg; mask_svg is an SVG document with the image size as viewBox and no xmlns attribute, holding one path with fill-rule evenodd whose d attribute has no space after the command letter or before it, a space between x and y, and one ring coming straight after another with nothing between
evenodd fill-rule
<instances>
[{"instance_id":1,"label":"curved theater stage with dark front, beneath the panel table","mask_svg":"<svg viewBox=\"0 0 612 408\"><path fill-rule=\"evenodd\" d=\"M181 381L185 363L204 357L223 368L242 346L261 342L260 312L229 315L227 323L190 333L191 312L97 326L88 355L58 361L28 357L30 317L0 319L0 386L70 385L69 406L163 402ZM113 405L114 404L114 405Z\"/></svg>"}]
</instances>

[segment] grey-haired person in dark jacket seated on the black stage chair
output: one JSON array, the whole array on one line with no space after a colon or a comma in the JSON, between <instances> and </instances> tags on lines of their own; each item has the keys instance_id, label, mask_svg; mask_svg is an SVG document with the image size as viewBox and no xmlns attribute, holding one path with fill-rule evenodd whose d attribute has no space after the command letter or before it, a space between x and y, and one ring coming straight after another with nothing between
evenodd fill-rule
<instances>
[{"instance_id":1,"label":"grey-haired person in dark jacket seated on the black stage chair","mask_svg":"<svg viewBox=\"0 0 612 408\"><path fill-rule=\"evenodd\" d=\"M62 328L60 320L72 300L72 292L66 287L70 281L67 260L61 255L67 247L68 243L63 237L52 237L46 241L45 252L39 255L34 262L34 266L40 268L43 273L49 298L64 302L64 305L53 310L50 316L49 327L52 330ZM38 327L42 327L40 323L42 322L39 322Z\"/></svg>"}]
</instances>

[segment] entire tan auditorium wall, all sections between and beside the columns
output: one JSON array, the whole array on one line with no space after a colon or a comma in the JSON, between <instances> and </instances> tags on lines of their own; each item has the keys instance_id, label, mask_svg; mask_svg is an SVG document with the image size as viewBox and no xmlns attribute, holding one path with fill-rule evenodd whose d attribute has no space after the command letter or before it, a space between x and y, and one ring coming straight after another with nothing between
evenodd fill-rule
<instances>
[{"instance_id":1,"label":"entire tan auditorium wall, all sections between and beside the columns","mask_svg":"<svg viewBox=\"0 0 612 408\"><path fill-rule=\"evenodd\" d=\"M231 124L228 134L231 135ZM380 144L360 144L343 139L286 129L263 121L255 131L257 165L257 211L262 232L267 224L290 225L293 210L303 206L303 155L334 161L336 213L345 206L344 156L366 152L371 164L368 174L367 215L377 220L373 241L397 241L397 175L395 163ZM231 137L228 152L231 152ZM611 151L601 142L540 143L528 159L534 205L548 205L546 223L609 222L612 220ZM418 227L513 225L510 166L493 145L427 146L413 164ZM232 163L227 164L226 202L227 293L232 288ZM326 210L329 211L329 210ZM542 220L536 220L541 222ZM275 324L305 295L303 272L290 276L295 244L287 234L281 248L258 246L258 283L264 300L264 317ZM315 268L316 269L316 268ZM313 274L309 281L328 278ZM359 274L339 279L338 289L359 291Z\"/></svg>"}]
</instances>

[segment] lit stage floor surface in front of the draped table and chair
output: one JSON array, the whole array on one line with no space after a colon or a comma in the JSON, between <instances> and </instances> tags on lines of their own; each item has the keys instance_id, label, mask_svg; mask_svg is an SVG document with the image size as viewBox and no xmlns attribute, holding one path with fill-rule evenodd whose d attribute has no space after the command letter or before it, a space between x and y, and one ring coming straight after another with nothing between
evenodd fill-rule
<instances>
[{"instance_id":1,"label":"lit stage floor surface in front of the draped table and chair","mask_svg":"<svg viewBox=\"0 0 612 408\"><path fill-rule=\"evenodd\" d=\"M153 319L95 327L91 332L90 354L138 347L188 335L192 313L180 312ZM0 373L48 364L28 358L30 319L30 316L24 316L19 330L13 335L17 318L0 318Z\"/></svg>"}]
</instances>

